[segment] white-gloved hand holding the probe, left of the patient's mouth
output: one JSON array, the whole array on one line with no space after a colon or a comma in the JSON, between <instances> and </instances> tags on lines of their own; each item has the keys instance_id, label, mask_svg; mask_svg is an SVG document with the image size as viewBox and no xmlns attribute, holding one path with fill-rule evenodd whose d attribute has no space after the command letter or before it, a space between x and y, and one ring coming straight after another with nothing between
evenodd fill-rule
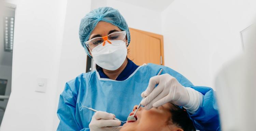
<instances>
[{"instance_id":1,"label":"white-gloved hand holding the probe, left of the patient's mouth","mask_svg":"<svg viewBox=\"0 0 256 131\"><path fill-rule=\"evenodd\" d=\"M90 131L119 131L122 128L121 121L114 117L114 114L97 111L89 124Z\"/></svg>"}]
</instances>

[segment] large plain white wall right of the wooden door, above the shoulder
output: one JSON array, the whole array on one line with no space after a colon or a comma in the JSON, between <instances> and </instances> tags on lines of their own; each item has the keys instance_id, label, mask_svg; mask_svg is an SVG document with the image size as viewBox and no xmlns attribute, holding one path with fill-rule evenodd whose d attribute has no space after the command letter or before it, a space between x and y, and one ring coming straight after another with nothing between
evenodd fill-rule
<instances>
[{"instance_id":1,"label":"large plain white wall right of the wooden door, above the shoulder","mask_svg":"<svg viewBox=\"0 0 256 131\"><path fill-rule=\"evenodd\" d=\"M194 85L213 87L216 71L241 52L239 32L251 24L253 0L175 0L162 12L165 65Z\"/></svg>"}]
</instances>

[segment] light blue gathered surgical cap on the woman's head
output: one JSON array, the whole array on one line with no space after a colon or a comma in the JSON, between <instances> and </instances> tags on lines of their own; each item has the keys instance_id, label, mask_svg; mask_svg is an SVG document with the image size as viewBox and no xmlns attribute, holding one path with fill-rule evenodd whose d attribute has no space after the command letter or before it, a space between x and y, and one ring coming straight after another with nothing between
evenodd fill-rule
<instances>
[{"instance_id":1,"label":"light blue gathered surgical cap on the woman's head","mask_svg":"<svg viewBox=\"0 0 256 131\"><path fill-rule=\"evenodd\" d=\"M95 9L88 14L84 18L82 18L80 26L79 26L79 38L82 46L84 47L87 55L89 57L89 51L84 45L85 41L88 41L91 32L94 30L99 21L109 22L117 27L120 30L126 31L128 45L130 43L130 31L128 25L125 21L125 18L120 14L120 12L111 7L100 7Z\"/></svg>"}]
</instances>

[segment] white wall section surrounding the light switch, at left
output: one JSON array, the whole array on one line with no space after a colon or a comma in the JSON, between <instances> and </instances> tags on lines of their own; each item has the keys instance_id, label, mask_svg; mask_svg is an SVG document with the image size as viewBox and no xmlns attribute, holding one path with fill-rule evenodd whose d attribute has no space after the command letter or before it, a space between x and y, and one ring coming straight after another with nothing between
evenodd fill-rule
<instances>
[{"instance_id":1,"label":"white wall section surrounding the light switch, at left","mask_svg":"<svg viewBox=\"0 0 256 131\"><path fill-rule=\"evenodd\" d=\"M50 131L67 1L15 2L12 92L0 130ZM48 79L46 93L34 91L38 77Z\"/></svg>"}]
</instances>

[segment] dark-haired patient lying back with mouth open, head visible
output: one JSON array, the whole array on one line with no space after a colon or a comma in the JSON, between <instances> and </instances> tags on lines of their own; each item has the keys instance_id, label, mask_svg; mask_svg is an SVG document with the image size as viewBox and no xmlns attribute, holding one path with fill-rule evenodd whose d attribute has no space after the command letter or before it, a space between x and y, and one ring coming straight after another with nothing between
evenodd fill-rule
<instances>
[{"instance_id":1,"label":"dark-haired patient lying back with mouth open, head visible","mask_svg":"<svg viewBox=\"0 0 256 131\"><path fill-rule=\"evenodd\" d=\"M137 107L134 106L130 115ZM187 112L171 103L150 110L141 107L134 117L137 120L127 121L120 131L196 131Z\"/></svg>"}]
</instances>

